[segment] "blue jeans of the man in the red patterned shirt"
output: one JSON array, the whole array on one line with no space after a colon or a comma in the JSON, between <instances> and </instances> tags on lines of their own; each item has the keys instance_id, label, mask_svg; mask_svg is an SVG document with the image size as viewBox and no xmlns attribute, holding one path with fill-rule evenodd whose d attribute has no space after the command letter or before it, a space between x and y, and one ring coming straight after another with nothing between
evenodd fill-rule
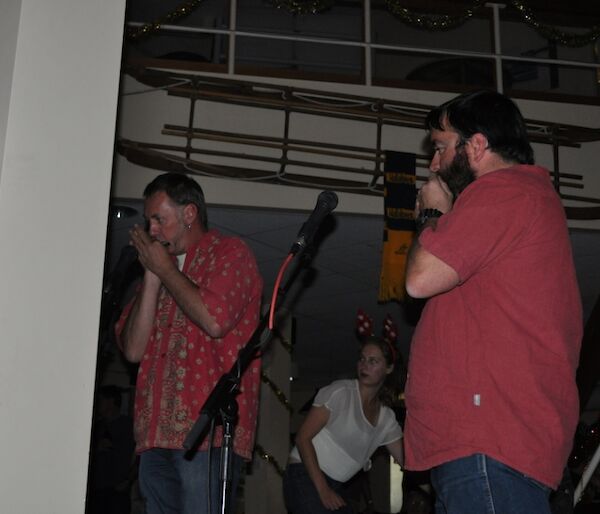
<instances>
[{"instance_id":1,"label":"blue jeans of the man in the red patterned shirt","mask_svg":"<svg viewBox=\"0 0 600 514\"><path fill-rule=\"evenodd\" d=\"M233 456L230 505L242 458ZM212 449L210 463L210 514L221 512L220 448ZM184 450L153 448L140 455L139 484L145 502L145 514L209 514L208 452L185 458Z\"/></svg>"}]
</instances>

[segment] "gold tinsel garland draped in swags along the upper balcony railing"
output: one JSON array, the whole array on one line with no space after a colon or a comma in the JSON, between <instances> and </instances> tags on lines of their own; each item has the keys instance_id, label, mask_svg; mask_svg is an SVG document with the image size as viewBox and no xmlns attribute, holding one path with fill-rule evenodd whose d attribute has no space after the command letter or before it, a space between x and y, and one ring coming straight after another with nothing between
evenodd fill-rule
<instances>
[{"instance_id":1,"label":"gold tinsel garland draped in swags along the upper balcony railing","mask_svg":"<svg viewBox=\"0 0 600 514\"><path fill-rule=\"evenodd\" d=\"M286 9L292 14L317 14L329 9L335 3L334 0L265 0L266 3L277 9ZM476 10L480 9L485 0L475 0L471 7L466 8L462 14L426 14L406 9L400 5L402 0L386 0L388 10L400 18L407 25L432 32L450 30L464 24L473 17ZM127 31L127 38L135 40L143 36L149 36L158 32L162 25L174 22L190 15L202 3L202 0L187 0L179 4L173 11L161 18L131 28ZM539 23L533 10L523 0L511 0L510 7L515 9L523 19L523 22L535 29L539 34L549 41L569 47L582 47L592 44L600 38L600 26L594 25L585 34L573 34Z\"/></svg>"}]
</instances>

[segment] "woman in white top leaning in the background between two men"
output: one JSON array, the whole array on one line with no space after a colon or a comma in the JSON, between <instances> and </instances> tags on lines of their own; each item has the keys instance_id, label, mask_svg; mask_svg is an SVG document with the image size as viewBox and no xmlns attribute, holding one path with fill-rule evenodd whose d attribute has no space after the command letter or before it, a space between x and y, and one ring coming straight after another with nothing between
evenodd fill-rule
<instances>
[{"instance_id":1,"label":"woman in white top leaning in the background between two men","mask_svg":"<svg viewBox=\"0 0 600 514\"><path fill-rule=\"evenodd\" d=\"M395 360L391 343L368 337L361 346L358 378L319 390L284 475L290 514L351 512L343 483L368 467L379 446L402 465L402 429L388 407L397 392L386 386L386 380L394 382Z\"/></svg>"}]
</instances>

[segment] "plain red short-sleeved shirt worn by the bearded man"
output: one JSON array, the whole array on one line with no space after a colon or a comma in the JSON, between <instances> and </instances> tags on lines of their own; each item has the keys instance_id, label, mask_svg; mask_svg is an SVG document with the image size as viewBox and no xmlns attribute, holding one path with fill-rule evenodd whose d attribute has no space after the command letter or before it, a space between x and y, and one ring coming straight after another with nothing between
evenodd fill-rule
<instances>
[{"instance_id":1,"label":"plain red short-sleeved shirt worn by the bearded man","mask_svg":"<svg viewBox=\"0 0 600 514\"><path fill-rule=\"evenodd\" d=\"M484 453L556 487L571 450L582 311L560 200L548 172L478 178L421 246L460 284L430 298L406 388L406 466Z\"/></svg>"}]
</instances>

